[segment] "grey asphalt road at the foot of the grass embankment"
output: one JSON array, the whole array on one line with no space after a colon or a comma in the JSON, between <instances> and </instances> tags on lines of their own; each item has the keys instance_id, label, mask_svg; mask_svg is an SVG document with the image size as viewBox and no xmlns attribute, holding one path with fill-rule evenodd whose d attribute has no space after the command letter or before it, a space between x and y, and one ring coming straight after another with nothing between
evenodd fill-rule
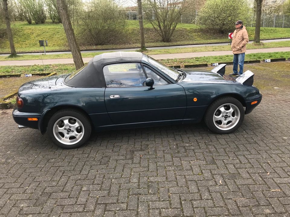
<instances>
[{"instance_id":1,"label":"grey asphalt road at the foot of the grass embankment","mask_svg":"<svg viewBox=\"0 0 290 217\"><path fill-rule=\"evenodd\" d=\"M279 42L279 41L289 41L288 39L272 39L272 40L262 40L261 42L267 43L267 42ZM173 48L189 48L189 47L203 47L203 46L219 46L219 45L228 45L230 43L213 43L213 44L200 44L200 45L181 45L181 46L169 46L169 47L151 47L150 50L158 50L158 49L173 49ZM249 43L253 43L250 41ZM135 51L137 48L133 49L108 49L108 50L88 50L88 51L81 51L81 53L91 53L91 52L118 52L118 51ZM71 53L70 51L65 52L48 52L47 55L50 54L63 54L63 53ZM21 55L38 55L39 52L35 53L24 53ZM0 56L8 56L9 54L1 54Z\"/></svg>"}]
</instances>

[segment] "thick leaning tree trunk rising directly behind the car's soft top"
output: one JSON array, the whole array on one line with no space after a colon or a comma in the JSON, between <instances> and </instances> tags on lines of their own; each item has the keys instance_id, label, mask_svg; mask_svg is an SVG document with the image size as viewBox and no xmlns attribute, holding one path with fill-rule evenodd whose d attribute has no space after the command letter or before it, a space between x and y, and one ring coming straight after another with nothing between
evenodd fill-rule
<instances>
[{"instance_id":1,"label":"thick leaning tree trunk rising directly behind the car's soft top","mask_svg":"<svg viewBox=\"0 0 290 217\"><path fill-rule=\"evenodd\" d=\"M57 0L57 8L60 13L60 17L63 23L64 31L66 32L67 41L72 52L73 62L75 63L76 70L83 67L82 54L79 49L79 45L76 42L75 34L72 30L72 24L69 19L69 13L65 0Z\"/></svg>"}]
</instances>

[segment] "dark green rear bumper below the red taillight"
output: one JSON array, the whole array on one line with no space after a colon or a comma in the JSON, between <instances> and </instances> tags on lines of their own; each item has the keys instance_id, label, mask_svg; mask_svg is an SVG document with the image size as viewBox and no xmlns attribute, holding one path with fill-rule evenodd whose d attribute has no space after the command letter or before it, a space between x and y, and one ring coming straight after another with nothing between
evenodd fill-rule
<instances>
[{"instance_id":1,"label":"dark green rear bumper below the red taillight","mask_svg":"<svg viewBox=\"0 0 290 217\"><path fill-rule=\"evenodd\" d=\"M17 124L33 129L38 129L40 116L40 113L19 112L17 108L14 108L12 112L12 117ZM37 118L38 121L28 121L27 118Z\"/></svg>"}]
</instances>

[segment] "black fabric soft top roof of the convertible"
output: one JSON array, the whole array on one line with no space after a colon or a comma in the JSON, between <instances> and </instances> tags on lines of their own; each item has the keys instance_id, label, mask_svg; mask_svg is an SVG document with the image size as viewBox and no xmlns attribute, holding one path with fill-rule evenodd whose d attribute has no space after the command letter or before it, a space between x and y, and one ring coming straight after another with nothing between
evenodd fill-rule
<instances>
[{"instance_id":1,"label":"black fabric soft top roof of the convertible","mask_svg":"<svg viewBox=\"0 0 290 217\"><path fill-rule=\"evenodd\" d=\"M144 54L140 52L112 52L96 55L87 66L65 83L76 87L105 87L103 68L105 65L123 62L141 62Z\"/></svg>"}]
</instances>

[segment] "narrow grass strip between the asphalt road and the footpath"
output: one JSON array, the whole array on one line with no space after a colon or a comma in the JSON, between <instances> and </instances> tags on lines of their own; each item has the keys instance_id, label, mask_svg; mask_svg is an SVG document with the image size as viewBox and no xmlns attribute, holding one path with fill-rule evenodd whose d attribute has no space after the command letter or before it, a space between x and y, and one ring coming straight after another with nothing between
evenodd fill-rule
<instances>
[{"instance_id":1,"label":"narrow grass strip between the asphalt road and the footpath","mask_svg":"<svg viewBox=\"0 0 290 217\"><path fill-rule=\"evenodd\" d=\"M275 47L290 47L290 41L282 42L269 42L264 45L255 46L248 44L247 49L261 49L261 48L275 48ZM188 53L188 52L205 52L205 51L228 51L230 46L203 46L192 48L173 48L173 49L158 49L144 52L147 55L153 54L172 54L172 53ZM82 57L94 57L102 52L82 53ZM48 55L18 55L18 57L8 58L7 56L0 56L0 61L5 60L34 60L34 59L59 59L59 58L72 58L71 54L48 54Z\"/></svg>"}]
</instances>

